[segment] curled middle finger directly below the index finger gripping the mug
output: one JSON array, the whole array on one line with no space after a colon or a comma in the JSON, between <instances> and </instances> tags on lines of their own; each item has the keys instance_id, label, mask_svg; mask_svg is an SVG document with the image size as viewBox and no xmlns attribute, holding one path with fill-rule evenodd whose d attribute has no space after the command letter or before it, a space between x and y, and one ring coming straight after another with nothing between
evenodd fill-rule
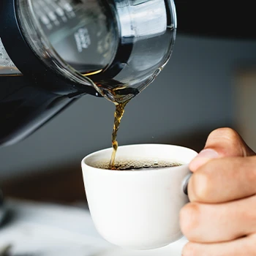
<instances>
[{"instance_id":1,"label":"curled middle finger directly below the index finger gripping the mug","mask_svg":"<svg viewBox=\"0 0 256 256\"><path fill-rule=\"evenodd\" d=\"M256 233L256 196L221 204L188 203L180 212L189 241L217 243Z\"/></svg>"}]
</instances>

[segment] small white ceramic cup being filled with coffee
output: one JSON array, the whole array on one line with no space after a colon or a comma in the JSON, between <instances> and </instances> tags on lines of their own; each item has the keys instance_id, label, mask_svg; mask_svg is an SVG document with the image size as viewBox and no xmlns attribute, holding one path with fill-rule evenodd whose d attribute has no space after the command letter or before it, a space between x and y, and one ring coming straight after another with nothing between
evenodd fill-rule
<instances>
[{"instance_id":1,"label":"small white ceramic cup being filled with coffee","mask_svg":"<svg viewBox=\"0 0 256 256\"><path fill-rule=\"evenodd\" d=\"M166 144L119 146L116 159L179 162L176 167L146 170L104 170L95 162L110 160L112 148L82 161L91 217L99 234L111 244L129 249L154 249L182 237L179 211L189 199L184 190L197 156L190 148Z\"/></svg>"}]
</instances>

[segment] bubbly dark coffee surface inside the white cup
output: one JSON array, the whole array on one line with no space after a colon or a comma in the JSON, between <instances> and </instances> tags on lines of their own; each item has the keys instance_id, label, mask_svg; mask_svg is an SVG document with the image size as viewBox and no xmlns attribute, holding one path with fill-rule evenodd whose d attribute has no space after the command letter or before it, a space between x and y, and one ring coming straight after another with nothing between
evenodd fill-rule
<instances>
[{"instance_id":1,"label":"bubbly dark coffee surface inside the white cup","mask_svg":"<svg viewBox=\"0 0 256 256\"><path fill-rule=\"evenodd\" d=\"M94 162L93 167L105 170L148 170L163 167L175 167L183 165L180 162L150 159L116 159L115 164L110 166L109 160Z\"/></svg>"}]
</instances>

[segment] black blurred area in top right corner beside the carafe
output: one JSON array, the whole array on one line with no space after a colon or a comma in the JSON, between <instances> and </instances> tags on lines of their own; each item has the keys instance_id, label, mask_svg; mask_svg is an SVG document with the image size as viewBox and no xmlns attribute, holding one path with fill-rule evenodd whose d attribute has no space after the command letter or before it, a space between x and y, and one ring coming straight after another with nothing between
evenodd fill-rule
<instances>
[{"instance_id":1,"label":"black blurred area in top right corner beside the carafe","mask_svg":"<svg viewBox=\"0 0 256 256\"><path fill-rule=\"evenodd\" d=\"M253 1L176 0L175 3L181 34L256 39Z\"/></svg>"}]
</instances>

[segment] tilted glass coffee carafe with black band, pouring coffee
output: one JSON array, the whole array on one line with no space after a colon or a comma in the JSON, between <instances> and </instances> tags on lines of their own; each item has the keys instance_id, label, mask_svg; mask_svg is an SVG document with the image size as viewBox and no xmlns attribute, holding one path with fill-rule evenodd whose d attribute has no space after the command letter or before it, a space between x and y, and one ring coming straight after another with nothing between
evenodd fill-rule
<instances>
[{"instance_id":1,"label":"tilted glass coffee carafe with black band, pouring coffee","mask_svg":"<svg viewBox=\"0 0 256 256\"><path fill-rule=\"evenodd\" d=\"M173 0L1 0L0 24L0 145L11 145L83 95L121 102L143 91L170 58L176 9Z\"/></svg>"}]
</instances>

